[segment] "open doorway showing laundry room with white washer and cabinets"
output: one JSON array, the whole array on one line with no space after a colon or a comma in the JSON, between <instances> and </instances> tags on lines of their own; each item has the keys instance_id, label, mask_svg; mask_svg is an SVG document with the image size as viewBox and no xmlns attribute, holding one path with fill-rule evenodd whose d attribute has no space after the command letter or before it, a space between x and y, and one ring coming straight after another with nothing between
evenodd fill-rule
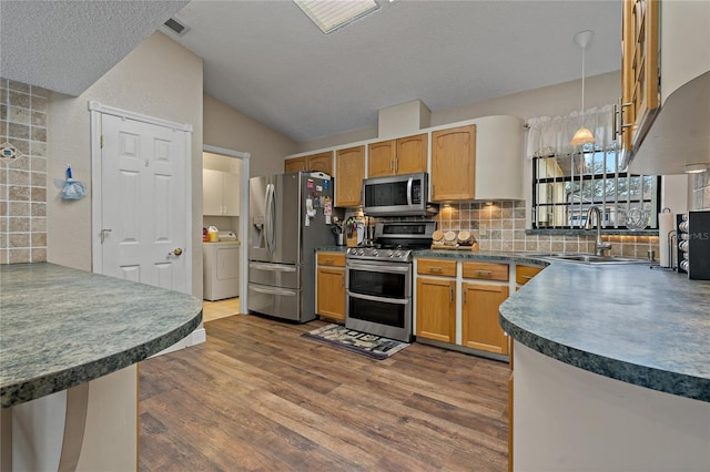
<instances>
[{"instance_id":1,"label":"open doorway showing laundry room with white washer and cabinets","mask_svg":"<svg viewBox=\"0 0 710 472\"><path fill-rule=\"evenodd\" d=\"M246 312L248 158L248 153L203 146L204 322Z\"/></svg>"}]
</instances>

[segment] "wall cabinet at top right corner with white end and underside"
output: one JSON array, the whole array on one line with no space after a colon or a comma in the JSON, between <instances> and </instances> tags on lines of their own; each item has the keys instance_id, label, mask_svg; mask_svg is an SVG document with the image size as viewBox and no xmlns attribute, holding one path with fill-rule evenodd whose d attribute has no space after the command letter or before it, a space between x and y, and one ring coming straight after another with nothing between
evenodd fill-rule
<instances>
[{"instance_id":1,"label":"wall cabinet at top right corner with white end and underside","mask_svg":"<svg viewBox=\"0 0 710 472\"><path fill-rule=\"evenodd\" d=\"M681 174L710 164L710 2L623 0L623 165Z\"/></svg>"}]
</instances>

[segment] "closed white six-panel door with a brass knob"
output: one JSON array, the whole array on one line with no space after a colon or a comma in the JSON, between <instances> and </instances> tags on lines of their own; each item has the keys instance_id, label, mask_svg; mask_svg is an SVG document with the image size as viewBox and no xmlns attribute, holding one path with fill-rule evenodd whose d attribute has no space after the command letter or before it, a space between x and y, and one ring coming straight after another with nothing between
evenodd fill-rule
<instances>
[{"instance_id":1,"label":"closed white six-panel door with a brass knob","mask_svg":"<svg viewBox=\"0 0 710 472\"><path fill-rule=\"evenodd\" d=\"M190 133L101 114L101 135L97 271L191 293Z\"/></svg>"}]
</instances>

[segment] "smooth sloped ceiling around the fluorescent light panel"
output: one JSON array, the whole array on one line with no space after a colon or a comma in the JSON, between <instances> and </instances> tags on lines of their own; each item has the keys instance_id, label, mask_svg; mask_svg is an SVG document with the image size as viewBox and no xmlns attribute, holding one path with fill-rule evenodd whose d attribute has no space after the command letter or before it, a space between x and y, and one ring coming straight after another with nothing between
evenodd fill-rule
<instances>
[{"instance_id":1,"label":"smooth sloped ceiling around the fluorescent light panel","mask_svg":"<svg viewBox=\"0 0 710 472\"><path fill-rule=\"evenodd\" d=\"M621 1L378 1L324 35L292 1L192 1L178 39L211 95L297 142L579 79L574 35L595 31L587 75L619 70Z\"/></svg>"}]
</instances>

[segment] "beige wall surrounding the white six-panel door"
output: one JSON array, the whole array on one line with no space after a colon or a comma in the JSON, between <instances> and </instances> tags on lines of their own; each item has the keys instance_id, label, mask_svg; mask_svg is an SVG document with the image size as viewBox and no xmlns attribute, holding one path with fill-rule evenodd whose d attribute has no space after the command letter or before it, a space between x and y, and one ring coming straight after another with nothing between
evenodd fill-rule
<instances>
[{"instance_id":1,"label":"beige wall surrounding the white six-panel door","mask_svg":"<svg viewBox=\"0 0 710 472\"><path fill-rule=\"evenodd\" d=\"M91 100L193 126L193 208L202 208L202 59L156 32L80 96L53 93L49 104L49 178L71 164L91 187ZM91 198L48 202L48 260L91 270ZM202 215L193 212L193 293L202 294Z\"/></svg>"}]
</instances>

